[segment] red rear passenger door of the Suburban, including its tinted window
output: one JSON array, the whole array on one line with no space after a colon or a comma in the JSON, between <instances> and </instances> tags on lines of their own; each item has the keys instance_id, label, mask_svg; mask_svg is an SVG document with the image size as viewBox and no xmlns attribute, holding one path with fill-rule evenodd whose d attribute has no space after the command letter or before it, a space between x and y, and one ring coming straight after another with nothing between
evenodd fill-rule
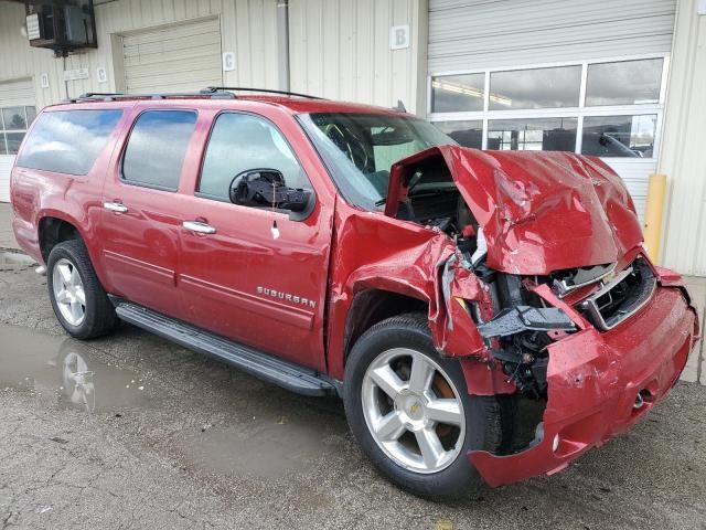
<instances>
[{"instance_id":1,"label":"red rear passenger door of the Suburban, including its tinted window","mask_svg":"<svg viewBox=\"0 0 706 530\"><path fill-rule=\"evenodd\" d=\"M110 293L183 318L176 293L184 158L196 127L191 108L138 104L103 192L101 257Z\"/></svg>"}]
</instances>

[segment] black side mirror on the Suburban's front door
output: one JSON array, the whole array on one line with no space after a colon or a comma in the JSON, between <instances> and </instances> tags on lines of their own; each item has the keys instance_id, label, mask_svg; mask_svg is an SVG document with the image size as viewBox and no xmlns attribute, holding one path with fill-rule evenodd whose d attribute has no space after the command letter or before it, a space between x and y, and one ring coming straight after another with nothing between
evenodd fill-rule
<instances>
[{"instance_id":1,"label":"black side mirror on the Suburban's front door","mask_svg":"<svg viewBox=\"0 0 706 530\"><path fill-rule=\"evenodd\" d=\"M311 200L311 191L285 184L285 176L276 169L252 169L231 182L231 202L244 206L276 208L302 212Z\"/></svg>"}]
</instances>

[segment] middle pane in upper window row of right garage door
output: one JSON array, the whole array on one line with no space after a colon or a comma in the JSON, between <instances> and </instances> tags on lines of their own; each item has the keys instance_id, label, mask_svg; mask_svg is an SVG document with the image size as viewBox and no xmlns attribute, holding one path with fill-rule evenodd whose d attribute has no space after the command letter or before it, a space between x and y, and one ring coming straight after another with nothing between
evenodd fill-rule
<instances>
[{"instance_id":1,"label":"middle pane in upper window row of right garage door","mask_svg":"<svg viewBox=\"0 0 706 530\"><path fill-rule=\"evenodd\" d=\"M490 110L578 107L581 66L490 74Z\"/></svg>"}]
</instances>

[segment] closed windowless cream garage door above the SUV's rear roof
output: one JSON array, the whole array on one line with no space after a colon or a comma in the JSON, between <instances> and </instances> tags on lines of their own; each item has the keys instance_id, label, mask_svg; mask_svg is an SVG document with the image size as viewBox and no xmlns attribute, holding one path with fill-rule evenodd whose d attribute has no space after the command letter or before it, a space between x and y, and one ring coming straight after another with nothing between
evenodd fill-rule
<instances>
[{"instance_id":1,"label":"closed windowless cream garage door above the SUV's rear roof","mask_svg":"<svg viewBox=\"0 0 706 530\"><path fill-rule=\"evenodd\" d=\"M218 19L125 35L122 51L129 93L189 92L223 84Z\"/></svg>"}]
</instances>

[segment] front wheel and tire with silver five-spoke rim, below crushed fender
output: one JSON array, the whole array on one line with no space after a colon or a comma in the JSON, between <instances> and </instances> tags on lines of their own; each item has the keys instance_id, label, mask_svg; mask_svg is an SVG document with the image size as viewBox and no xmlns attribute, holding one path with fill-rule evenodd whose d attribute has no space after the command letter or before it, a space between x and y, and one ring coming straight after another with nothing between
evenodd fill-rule
<instances>
[{"instance_id":1,"label":"front wheel and tire with silver five-spoke rim, below crushed fender","mask_svg":"<svg viewBox=\"0 0 706 530\"><path fill-rule=\"evenodd\" d=\"M368 329L345 368L351 431L372 463L421 497L468 497L483 487L472 449L504 451L514 400L469 395L458 361L441 358L424 315L392 317Z\"/></svg>"}]
</instances>

